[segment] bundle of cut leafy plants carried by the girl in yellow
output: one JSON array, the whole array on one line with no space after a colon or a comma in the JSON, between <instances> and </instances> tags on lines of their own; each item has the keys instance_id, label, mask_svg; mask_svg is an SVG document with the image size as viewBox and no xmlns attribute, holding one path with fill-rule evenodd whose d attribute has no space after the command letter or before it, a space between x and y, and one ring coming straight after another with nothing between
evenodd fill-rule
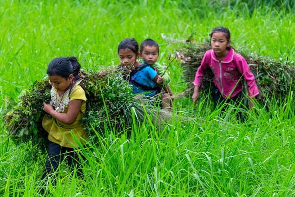
<instances>
[{"instance_id":1,"label":"bundle of cut leafy plants carried by the girl in yellow","mask_svg":"<svg viewBox=\"0 0 295 197\"><path fill-rule=\"evenodd\" d=\"M132 113L138 122L149 119L155 124L162 123L170 111L155 110L152 99L144 99L132 93L132 86L123 79L122 71L112 67L104 71L81 72L82 83L86 90L87 107L82 124L89 133L90 143L97 141L95 131L104 126L122 128L132 125ZM9 103L4 123L11 139L18 145L31 143L34 153L45 151L47 132L42 127L43 101L50 101L51 85L48 79L35 82L29 90L24 91L17 104ZM163 114L159 116L158 114Z\"/></svg>"}]
</instances>

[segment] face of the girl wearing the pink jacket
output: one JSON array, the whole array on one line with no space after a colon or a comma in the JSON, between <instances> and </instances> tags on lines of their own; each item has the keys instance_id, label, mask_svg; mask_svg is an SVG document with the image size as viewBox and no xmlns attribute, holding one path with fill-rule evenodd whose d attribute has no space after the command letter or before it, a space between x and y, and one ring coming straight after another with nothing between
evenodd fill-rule
<instances>
[{"instance_id":1,"label":"face of the girl wearing the pink jacket","mask_svg":"<svg viewBox=\"0 0 295 197\"><path fill-rule=\"evenodd\" d=\"M227 40L224 32L215 32L212 35L211 47L216 56L222 56L225 53L226 48L230 46L231 41Z\"/></svg>"}]
</instances>

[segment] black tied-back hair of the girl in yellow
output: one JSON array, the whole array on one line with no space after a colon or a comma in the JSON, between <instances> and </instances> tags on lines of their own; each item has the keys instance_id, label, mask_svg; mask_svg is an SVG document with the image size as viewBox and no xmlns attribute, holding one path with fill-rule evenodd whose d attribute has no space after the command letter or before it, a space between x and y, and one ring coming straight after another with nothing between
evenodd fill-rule
<instances>
[{"instance_id":1,"label":"black tied-back hair of the girl in yellow","mask_svg":"<svg viewBox=\"0 0 295 197\"><path fill-rule=\"evenodd\" d=\"M73 74L74 81L77 81L80 76L80 64L77 61L77 58L71 57L60 57L53 59L47 68L47 74L51 75L58 75L65 79L67 79L70 74Z\"/></svg>"}]
</instances>

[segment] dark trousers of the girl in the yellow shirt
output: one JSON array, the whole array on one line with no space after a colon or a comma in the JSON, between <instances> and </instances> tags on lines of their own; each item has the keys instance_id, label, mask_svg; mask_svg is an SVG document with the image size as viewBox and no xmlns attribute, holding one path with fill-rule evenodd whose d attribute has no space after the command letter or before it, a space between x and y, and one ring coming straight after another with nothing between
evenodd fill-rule
<instances>
[{"instance_id":1,"label":"dark trousers of the girl in the yellow shirt","mask_svg":"<svg viewBox=\"0 0 295 197\"><path fill-rule=\"evenodd\" d=\"M67 154L65 154L67 152ZM57 171L59 164L62 162L64 157L67 157L68 166L73 172L76 167L77 176L83 178L83 172L81 169L81 164L79 162L79 156L76 153L75 149L67 148L60 146L57 143L49 141L48 144L48 155L47 160L45 162L45 170L42 175L42 179L44 180L46 177L51 177ZM56 185L56 177L52 178L52 185ZM41 194L43 194L45 189L41 190Z\"/></svg>"}]
</instances>

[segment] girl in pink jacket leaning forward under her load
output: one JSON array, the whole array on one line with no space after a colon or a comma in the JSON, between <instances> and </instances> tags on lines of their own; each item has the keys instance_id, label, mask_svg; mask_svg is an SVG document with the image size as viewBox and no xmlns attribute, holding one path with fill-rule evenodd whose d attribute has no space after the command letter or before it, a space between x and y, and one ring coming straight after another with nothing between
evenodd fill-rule
<instances>
[{"instance_id":1,"label":"girl in pink jacket leaning forward under her load","mask_svg":"<svg viewBox=\"0 0 295 197\"><path fill-rule=\"evenodd\" d=\"M199 97L199 87L204 71L210 68L214 73L214 110L222 102L233 100L236 102L242 94L242 77L249 87L249 96L259 94L255 78L243 56L235 53L230 46L230 31L225 27L217 27L211 33L211 47L202 59L201 65L196 72L195 89L192 96L193 102ZM230 99L227 99L230 98ZM250 102L250 105L251 102Z\"/></svg>"}]
</instances>

